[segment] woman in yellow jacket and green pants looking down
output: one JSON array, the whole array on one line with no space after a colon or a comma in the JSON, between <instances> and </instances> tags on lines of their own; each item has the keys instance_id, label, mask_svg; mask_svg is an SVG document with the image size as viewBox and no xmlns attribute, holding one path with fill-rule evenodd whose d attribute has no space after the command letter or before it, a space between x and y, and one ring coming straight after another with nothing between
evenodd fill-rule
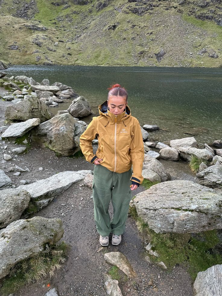
<instances>
[{"instance_id":1,"label":"woman in yellow jacket and green pants looking down","mask_svg":"<svg viewBox=\"0 0 222 296\"><path fill-rule=\"evenodd\" d=\"M119 84L109 89L108 99L99 106L100 116L93 117L80 137L80 147L87 161L95 164L93 178L94 219L100 244L119 245L125 231L132 190L143 182L144 145L138 120L131 116L128 94ZM92 140L98 138L93 153ZM132 169L133 167L133 174ZM131 185L132 183L132 185ZM113 204L113 219L109 203Z\"/></svg>"}]
</instances>

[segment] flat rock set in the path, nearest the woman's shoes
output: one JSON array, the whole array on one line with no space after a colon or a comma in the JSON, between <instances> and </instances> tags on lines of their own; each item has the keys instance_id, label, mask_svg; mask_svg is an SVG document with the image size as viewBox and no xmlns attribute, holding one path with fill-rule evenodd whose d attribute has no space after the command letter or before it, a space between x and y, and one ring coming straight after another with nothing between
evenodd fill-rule
<instances>
[{"instance_id":1,"label":"flat rock set in the path, nearest the woman's shoes","mask_svg":"<svg viewBox=\"0 0 222 296\"><path fill-rule=\"evenodd\" d=\"M107 263L117 266L122 272L124 272L129 278L134 278L136 275L131 264L125 255L121 252L109 252L104 255L104 259Z\"/></svg>"}]
</instances>

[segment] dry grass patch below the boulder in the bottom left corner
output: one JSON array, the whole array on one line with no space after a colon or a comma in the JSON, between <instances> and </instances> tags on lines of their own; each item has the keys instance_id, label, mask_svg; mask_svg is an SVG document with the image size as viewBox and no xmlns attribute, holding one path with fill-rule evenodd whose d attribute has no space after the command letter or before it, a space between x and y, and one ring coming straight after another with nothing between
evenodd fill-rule
<instances>
[{"instance_id":1,"label":"dry grass patch below the boulder in the bottom left corner","mask_svg":"<svg viewBox=\"0 0 222 296\"><path fill-rule=\"evenodd\" d=\"M56 275L65 262L67 250L68 245L62 242L60 245L51 246L48 253L40 253L38 256L17 263L10 274L1 280L0 295L16 293L24 285Z\"/></svg>"}]
</instances>

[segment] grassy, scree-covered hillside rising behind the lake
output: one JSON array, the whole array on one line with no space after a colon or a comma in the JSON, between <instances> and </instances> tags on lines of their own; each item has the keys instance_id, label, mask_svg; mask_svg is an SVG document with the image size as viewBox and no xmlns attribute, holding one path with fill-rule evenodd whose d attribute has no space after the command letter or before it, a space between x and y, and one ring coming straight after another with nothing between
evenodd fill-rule
<instances>
[{"instance_id":1,"label":"grassy, scree-covered hillside rising behind the lake","mask_svg":"<svg viewBox=\"0 0 222 296\"><path fill-rule=\"evenodd\" d=\"M221 0L0 0L11 64L222 67Z\"/></svg>"}]
</instances>

